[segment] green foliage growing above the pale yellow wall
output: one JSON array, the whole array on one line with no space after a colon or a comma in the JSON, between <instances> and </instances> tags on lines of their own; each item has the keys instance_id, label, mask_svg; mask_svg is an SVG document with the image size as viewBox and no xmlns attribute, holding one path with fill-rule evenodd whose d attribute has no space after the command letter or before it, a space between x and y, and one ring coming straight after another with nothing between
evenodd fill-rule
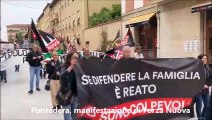
<instances>
[{"instance_id":1,"label":"green foliage growing above the pale yellow wall","mask_svg":"<svg viewBox=\"0 0 212 120\"><path fill-rule=\"evenodd\" d=\"M121 4L113 5L112 9L102 8L99 13L89 17L89 27L121 18Z\"/></svg>"}]
</instances>

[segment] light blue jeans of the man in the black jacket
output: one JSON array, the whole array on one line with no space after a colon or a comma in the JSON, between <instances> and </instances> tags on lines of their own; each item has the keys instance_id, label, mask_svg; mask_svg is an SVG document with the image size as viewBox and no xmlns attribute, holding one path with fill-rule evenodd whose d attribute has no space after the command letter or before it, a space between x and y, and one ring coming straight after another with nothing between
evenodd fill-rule
<instances>
[{"instance_id":1,"label":"light blue jeans of the man in the black jacket","mask_svg":"<svg viewBox=\"0 0 212 120\"><path fill-rule=\"evenodd\" d=\"M34 84L34 76L36 75L36 88L39 88L39 81L40 81L40 66L32 67L30 66L30 90L33 90Z\"/></svg>"}]
</instances>

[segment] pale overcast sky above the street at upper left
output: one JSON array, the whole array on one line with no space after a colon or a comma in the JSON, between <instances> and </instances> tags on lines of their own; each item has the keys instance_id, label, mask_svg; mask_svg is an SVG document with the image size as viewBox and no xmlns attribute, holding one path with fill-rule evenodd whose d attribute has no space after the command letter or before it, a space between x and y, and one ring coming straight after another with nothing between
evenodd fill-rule
<instances>
[{"instance_id":1,"label":"pale overcast sky above the street at upper left","mask_svg":"<svg viewBox=\"0 0 212 120\"><path fill-rule=\"evenodd\" d=\"M46 4L52 0L1 0L1 37L7 40L6 26L36 22Z\"/></svg>"}]
</instances>

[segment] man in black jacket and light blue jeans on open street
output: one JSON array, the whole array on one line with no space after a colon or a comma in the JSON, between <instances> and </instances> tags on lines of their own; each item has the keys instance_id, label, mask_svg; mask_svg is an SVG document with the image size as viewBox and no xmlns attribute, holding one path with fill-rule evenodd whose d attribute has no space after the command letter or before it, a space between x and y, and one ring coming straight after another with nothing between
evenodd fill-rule
<instances>
[{"instance_id":1,"label":"man in black jacket and light blue jeans on open street","mask_svg":"<svg viewBox=\"0 0 212 120\"><path fill-rule=\"evenodd\" d=\"M40 91L39 88L40 69L43 56L38 50L39 50L38 45L33 44L32 51L30 51L26 57L26 61L30 65L30 90L28 92L29 94L33 93L34 76L36 76L36 90Z\"/></svg>"}]
</instances>

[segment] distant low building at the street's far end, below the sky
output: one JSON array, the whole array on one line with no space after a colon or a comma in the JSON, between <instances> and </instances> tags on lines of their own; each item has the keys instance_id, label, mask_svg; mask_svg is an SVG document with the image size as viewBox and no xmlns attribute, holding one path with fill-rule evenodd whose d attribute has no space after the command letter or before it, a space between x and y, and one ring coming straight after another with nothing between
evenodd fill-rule
<instances>
[{"instance_id":1,"label":"distant low building at the street's far end, below the sky","mask_svg":"<svg viewBox=\"0 0 212 120\"><path fill-rule=\"evenodd\" d=\"M7 37L9 42L14 42L17 34L22 34L23 38L28 32L30 24L12 24L7 27Z\"/></svg>"}]
</instances>

